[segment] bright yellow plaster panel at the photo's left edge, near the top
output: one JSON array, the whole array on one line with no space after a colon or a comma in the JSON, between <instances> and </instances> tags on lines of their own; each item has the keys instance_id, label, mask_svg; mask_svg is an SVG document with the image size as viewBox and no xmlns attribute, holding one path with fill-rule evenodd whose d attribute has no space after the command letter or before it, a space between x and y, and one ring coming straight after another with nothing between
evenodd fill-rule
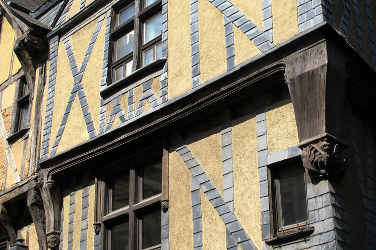
<instances>
[{"instance_id":1,"label":"bright yellow plaster panel at the photo's left edge, near the top","mask_svg":"<svg viewBox=\"0 0 376 250\"><path fill-rule=\"evenodd\" d=\"M15 32L11 23L11 18L8 14L5 14L5 18L3 18L2 34L0 35L0 55L2 55L0 83L3 83L8 79L11 70L13 44L15 42Z\"/></svg>"}]
</instances>

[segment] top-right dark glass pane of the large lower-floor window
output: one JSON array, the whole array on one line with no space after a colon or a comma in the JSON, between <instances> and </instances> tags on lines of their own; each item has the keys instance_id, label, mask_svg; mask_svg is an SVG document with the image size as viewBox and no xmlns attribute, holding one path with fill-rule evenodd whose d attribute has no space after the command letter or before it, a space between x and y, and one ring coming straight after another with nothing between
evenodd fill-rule
<instances>
[{"instance_id":1,"label":"top-right dark glass pane of the large lower-floor window","mask_svg":"<svg viewBox=\"0 0 376 250\"><path fill-rule=\"evenodd\" d=\"M154 164L143 170L142 198L154 196L162 190L162 164Z\"/></svg>"}]
</instances>

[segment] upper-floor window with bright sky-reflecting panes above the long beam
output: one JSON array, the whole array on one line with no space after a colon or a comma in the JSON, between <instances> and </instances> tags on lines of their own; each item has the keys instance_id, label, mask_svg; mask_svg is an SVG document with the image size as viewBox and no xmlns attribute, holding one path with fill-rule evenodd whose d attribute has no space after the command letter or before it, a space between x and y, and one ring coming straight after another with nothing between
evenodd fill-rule
<instances>
[{"instance_id":1,"label":"upper-floor window with bright sky-reflecting panes above the long beam","mask_svg":"<svg viewBox=\"0 0 376 250\"><path fill-rule=\"evenodd\" d=\"M112 65L114 83L162 57L161 0L121 2L113 16Z\"/></svg>"}]
</instances>

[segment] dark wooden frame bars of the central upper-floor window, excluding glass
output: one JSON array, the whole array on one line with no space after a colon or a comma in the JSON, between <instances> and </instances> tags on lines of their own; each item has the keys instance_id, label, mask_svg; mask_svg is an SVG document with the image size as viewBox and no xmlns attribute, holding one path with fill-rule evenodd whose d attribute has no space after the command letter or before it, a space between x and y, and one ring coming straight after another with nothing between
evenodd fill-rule
<instances>
[{"instance_id":1,"label":"dark wooden frame bars of the central upper-floor window, excluding glass","mask_svg":"<svg viewBox=\"0 0 376 250\"><path fill-rule=\"evenodd\" d=\"M109 53L109 63L108 64L108 72L109 76L107 80L107 86L113 84L115 81L115 69L119 67L124 67L124 65L131 60L132 63L132 72L136 71L137 69L142 68L142 52L145 49L150 48L157 43L161 43L162 41L162 34L158 37L149 41L147 44L142 44L143 38L143 29L144 29L144 22L149 19L150 17L158 14L162 11L162 0L157 0L156 2L152 3L148 7L144 8L145 0L134 0L134 1L121 1L120 3L113 6L112 12L112 21L111 21L111 31L110 31L110 53ZM118 15L119 12L135 3L135 14L132 18L125 21L123 24L117 25L117 21L119 19ZM116 58L116 40L127 34L128 32L134 30L134 41L133 41L133 53L130 53L123 58L115 61ZM126 70L123 71L123 77L125 77ZM122 79L120 78L120 79Z\"/></svg>"}]
</instances>

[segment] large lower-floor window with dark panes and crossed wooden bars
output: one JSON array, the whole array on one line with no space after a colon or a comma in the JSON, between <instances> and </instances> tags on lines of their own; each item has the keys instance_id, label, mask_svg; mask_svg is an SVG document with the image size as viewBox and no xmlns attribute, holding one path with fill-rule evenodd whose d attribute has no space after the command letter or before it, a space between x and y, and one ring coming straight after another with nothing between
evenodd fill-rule
<instances>
[{"instance_id":1,"label":"large lower-floor window with dark panes and crossed wooden bars","mask_svg":"<svg viewBox=\"0 0 376 250\"><path fill-rule=\"evenodd\" d=\"M134 164L105 181L107 249L160 249L161 157Z\"/></svg>"}]
</instances>

